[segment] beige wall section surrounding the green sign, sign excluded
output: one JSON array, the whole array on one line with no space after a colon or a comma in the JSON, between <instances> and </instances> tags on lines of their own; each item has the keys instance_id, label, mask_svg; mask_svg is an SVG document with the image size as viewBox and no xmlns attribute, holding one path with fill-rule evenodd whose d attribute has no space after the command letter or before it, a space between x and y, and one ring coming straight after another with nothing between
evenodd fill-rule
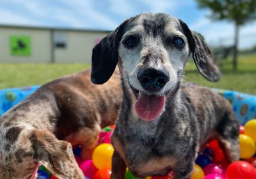
<instances>
[{"instance_id":1,"label":"beige wall section surrounding the green sign, sign excluded","mask_svg":"<svg viewBox=\"0 0 256 179\"><path fill-rule=\"evenodd\" d=\"M29 35L31 37L31 54L29 56L12 56L9 45L10 35ZM0 27L0 63L50 62L50 45L50 30Z\"/></svg>"}]
</instances>

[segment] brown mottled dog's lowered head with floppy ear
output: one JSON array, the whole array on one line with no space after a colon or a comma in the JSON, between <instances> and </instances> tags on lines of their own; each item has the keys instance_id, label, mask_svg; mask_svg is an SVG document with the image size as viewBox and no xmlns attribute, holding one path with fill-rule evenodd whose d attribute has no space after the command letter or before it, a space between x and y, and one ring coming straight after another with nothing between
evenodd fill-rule
<instances>
[{"instance_id":1,"label":"brown mottled dog's lowered head with floppy ear","mask_svg":"<svg viewBox=\"0 0 256 179\"><path fill-rule=\"evenodd\" d=\"M10 127L0 132L0 178L35 179L39 164L60 178L84 178L71 144L45 129Z\"/></svg>"}]
</instances>

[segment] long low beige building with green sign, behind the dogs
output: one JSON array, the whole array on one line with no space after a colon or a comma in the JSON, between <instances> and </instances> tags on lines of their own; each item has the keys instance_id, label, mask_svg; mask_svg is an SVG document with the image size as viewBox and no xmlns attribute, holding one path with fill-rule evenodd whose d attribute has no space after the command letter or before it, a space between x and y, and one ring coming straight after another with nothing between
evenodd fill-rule
<instances>
[{"instance_id":1,"label":"long low beige building with green sign, behind the dogs","mask_svg":"<svg viewBox=\"0 0 256 179\"><path fill-rule=\"evenodd\" d=\"M0 63L90 63L109 31L0 25Z\"/></svg>"}]
</instances>

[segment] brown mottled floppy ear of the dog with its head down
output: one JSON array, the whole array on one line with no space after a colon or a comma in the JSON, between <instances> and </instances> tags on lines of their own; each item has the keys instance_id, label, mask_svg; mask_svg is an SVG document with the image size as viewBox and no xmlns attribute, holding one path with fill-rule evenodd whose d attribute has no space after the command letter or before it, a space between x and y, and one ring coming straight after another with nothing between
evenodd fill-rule
<instances>
[{"instance_id":1,"label":"brown mottled floppy ear of the dog with its head down","mask_svg":"<svg viewBox=\"0 0 256 179\"><path fill-rule=\"evenodd\" d=\"M84 179L70 143L58 140L46 129L35 129L30 136L32 157L58 178Z\"/></svg>"}]
</instances>

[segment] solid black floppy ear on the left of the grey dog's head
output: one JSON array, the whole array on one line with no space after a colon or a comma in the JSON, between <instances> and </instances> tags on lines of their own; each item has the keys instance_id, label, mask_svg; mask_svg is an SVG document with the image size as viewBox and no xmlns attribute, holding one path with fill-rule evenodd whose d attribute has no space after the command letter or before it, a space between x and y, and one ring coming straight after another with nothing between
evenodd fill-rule
<instances>
[{"instance_id":1,"label":"solid black floppy ear on the left of the grey dog's head","mask_svg":"<svg viewBox=\"0 0 256 179\"><path fill-rule=\"evenodd\" d=\"M124 34L125 20L93 48L91 81L103 84L114 73L118 62L118 45Z\"/></svg>"}]
</instances>

